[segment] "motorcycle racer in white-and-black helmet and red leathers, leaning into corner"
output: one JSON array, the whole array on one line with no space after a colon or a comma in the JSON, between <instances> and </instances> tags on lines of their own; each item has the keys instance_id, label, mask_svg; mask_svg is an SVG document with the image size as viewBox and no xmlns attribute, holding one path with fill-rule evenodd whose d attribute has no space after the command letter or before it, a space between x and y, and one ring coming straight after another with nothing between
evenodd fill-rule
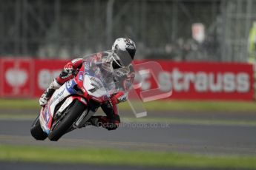
<instances>
[{"instance_id":1,"label":"motorcycle racer in white-and-black helmet and red leathers, leaning into corner","mask_svg":"<svg viewBox=\"0 0 256 170\"><path fill-rule=\"evenodd\" d=\"M134 55L136 52L136 46L134 41L130 38L117 38L114 41L112 46L113 55L111 59L111 67L112 70L119 69L120 67L129 67L131 61L134 59ZM125 58L116 58L116 54L119 52L126 52L129 56L125 56ZM101 55L95 55L93 57L94 61L102 60ZM41 106L45 106L47 101L53 95L56 89L59 89L62 84L65 84L66 81L76 77L79 69L81 69L83 64L83 58L76 58L73 61L68 62L65 64L65 67L62 69L62 72L59 74L57 78L54 78L51 82L50 86L45 90L42 94L41 98L39 99L39 103ZM134 80L134 73L128 75L130 78L130 84L128 85L129 88ZM93 126L102 126L108 130L114 130L119 126L120 118L118 114L117 104L120 102L126 101L127 93L119 91L114 95L111 95L110 100L105 103L102 103L101 108L103 112L105 112L106 116L92 116L90 122Z\"/></svg>"}]
</instances>

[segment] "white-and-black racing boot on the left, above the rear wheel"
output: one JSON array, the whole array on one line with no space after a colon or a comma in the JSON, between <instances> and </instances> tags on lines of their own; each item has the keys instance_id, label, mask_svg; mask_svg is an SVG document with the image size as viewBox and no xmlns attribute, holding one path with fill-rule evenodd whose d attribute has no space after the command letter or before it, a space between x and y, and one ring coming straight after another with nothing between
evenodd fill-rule
<instances>
[{"instance_id":1,"label":"white-and-black racing boot on the left, above the rear wheel","mask_svg":"<svg viewBox=\"0 0 256 170\"><path fill-rule=\"evenodd\" d=\"M50 86L45 89L45 92L42 94L41 98L39 99L39 103L41 106L45 106L47 104L47 101L49 101L50 97L53 95L53 92L55 92L56 89L59 89L61 85L58 84L56 79L54 79Z\"/></svg>"}]
</instances>

